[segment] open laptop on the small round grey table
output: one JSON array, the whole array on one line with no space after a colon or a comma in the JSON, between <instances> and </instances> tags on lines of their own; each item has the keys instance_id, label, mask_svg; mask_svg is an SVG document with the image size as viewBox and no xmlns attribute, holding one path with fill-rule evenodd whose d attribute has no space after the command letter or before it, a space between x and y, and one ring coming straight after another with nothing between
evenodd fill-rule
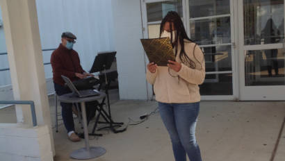
<instances>
[{"instance_id":1,"label":"open laptop on the small round grey table","mask_svg":"<svg viewBox=\"0 0 285 161\"><path fill-rule=\"evenodd\" d=\"M67 78L66 76L61 76L63 80L65 80L65 83L67 84L68 87L70 87L70 90L74 94L76 94L79 98L84 98L88 96L98 96L99 92L97 90L77 90L70 78Z\"/></svg>"}]
</instances>

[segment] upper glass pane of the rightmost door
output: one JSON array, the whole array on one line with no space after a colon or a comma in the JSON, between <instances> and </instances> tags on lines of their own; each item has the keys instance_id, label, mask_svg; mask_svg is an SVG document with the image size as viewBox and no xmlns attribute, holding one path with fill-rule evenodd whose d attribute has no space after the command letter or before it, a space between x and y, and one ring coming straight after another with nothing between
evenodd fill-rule
<instances>
[{"instance_id":1,"label":"upper glass pane of the rightmost door","mask_svg":"<svg viewBox=\"0 0 285 161\"><path fill-rule=\"evenodd\" d=\"M275 44L284 38L283 0L244 0L245 44Z\"/></svg>"}]
</instances>

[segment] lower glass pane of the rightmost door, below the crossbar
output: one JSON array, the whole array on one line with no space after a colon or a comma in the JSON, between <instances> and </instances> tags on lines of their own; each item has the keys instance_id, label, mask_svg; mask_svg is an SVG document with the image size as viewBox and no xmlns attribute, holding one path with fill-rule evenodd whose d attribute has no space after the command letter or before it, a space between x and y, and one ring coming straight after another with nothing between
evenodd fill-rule
<instances>
[{"instance_id":1,"label":"lower glass pane of the rightmost door, below the crossbar","mask_svg":"<svg viewBox=\"0 0 285 161\"><path fill-rule=\"evenodd\" d=\"M245 51L245 85L285 85L284 50Z\"/></svg>"}]
</instances>

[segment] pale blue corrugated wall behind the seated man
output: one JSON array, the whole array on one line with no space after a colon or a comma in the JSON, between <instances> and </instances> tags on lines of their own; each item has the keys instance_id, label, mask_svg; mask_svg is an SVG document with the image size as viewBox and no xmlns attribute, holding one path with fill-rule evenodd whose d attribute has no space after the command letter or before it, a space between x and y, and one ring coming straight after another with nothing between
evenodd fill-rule
<instances>
[{"instance_id":1,"label":"pale blue corrugated wall behind the seated man","mask_svg":"<svg viewBox=\"0 0 285 161\"><path fill-rule=\"evenodd\" d=\"M42 49L56 49L63 31L76 35L83 69L89 71L99 51L114 50L111 0L36 0ZM1 19L1 9L0 9ZM0 53L6 52L3 27L0 28ZM42 51L44 63L52 51ZM8 68L6 55L0 56L0 69ZM45 77L51 78L51 65L44 66ZM9 71L0 71L0 86L9 85Z\"/></svg>"}]
</instances>

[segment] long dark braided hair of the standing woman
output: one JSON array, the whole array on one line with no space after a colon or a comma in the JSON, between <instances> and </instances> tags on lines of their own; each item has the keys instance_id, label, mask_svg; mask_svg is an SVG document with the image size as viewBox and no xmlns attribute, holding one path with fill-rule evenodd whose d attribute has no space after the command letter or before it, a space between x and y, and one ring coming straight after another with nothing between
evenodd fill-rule
<instances>
[{"instance_id":1,"label":"long dark braided hair of the standing woman","mask_svg":"<svg viewBox=\"0 0 285 161\"><path fill-rule=\"evenodd\" d=\"M170 42L173 42L172 41L172 37L173 37L172 36L172 30L175 28L175 42L176 43L172 43L172 47L175 46L175 53L174 53L175 57L177 56L177 53L178 53L177 50L178 50L178 42L179 42L179 44L181 45L181 51L179 54L179 58L180 58L181 62L183 62L188 67L195 69L196 68L195 62L187 56L185 49L184 49L184 40L188 40L190 42L193 42L193 40L190 40L190 38L188 37L186 30L184 28L184 24L181 20L181 17L175 11L168 12L168 14L163 18L163 20L161 22L160 36L163 33L163 28L164 28L166 22L170 23L170 33L171 33ZM174 28L172 28L172 22L174 24ZM196 46L197 46L197 44L195 44L195 47ZM195 53L194 53L195 47L193 50L194 58L195 58ZM197 60L197 58L195 58L195 59ZM197 62L199 62L199 60L197 60ZM201 62L199 62L199 63L201 63Z\"/></svg>"}]
</instances>

